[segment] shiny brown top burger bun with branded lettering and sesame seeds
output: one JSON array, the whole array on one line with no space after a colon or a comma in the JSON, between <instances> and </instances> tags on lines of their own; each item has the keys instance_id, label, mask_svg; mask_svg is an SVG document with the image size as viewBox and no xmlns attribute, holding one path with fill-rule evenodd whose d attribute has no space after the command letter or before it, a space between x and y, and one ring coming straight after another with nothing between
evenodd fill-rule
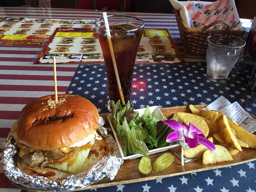
<instances>
[{"instance_id":1,"label":"shiny brown top burger bun with branded lettering and sesame seeds","mask_svg":"<svg viewBox=\"0 0 256 192\"><path fill-rule=\"evenodd\" d=\"M99 112L89 100L60 94L34 99L21 111L17 121L17 142L37 150L69 147L93 134Z\"/></svg>"}]
</instances>

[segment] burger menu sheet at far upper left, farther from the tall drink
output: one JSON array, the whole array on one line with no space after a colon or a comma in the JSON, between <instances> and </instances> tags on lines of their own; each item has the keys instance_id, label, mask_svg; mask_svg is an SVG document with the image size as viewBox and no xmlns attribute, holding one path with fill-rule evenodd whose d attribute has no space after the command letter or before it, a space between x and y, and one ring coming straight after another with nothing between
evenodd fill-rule
<instances>
[{"instance_id":1,"label":"burger menu sheet at far upper left, farther from the tall drink","mask_svg":"<svg viewBox=\"0 0 256 192\"><path fill-rule=\"evenodd\" d=\"M88 19L5 17L0 20L0 46L42 47L58 27L94 28Z\"/></svg>"}]
</instances>

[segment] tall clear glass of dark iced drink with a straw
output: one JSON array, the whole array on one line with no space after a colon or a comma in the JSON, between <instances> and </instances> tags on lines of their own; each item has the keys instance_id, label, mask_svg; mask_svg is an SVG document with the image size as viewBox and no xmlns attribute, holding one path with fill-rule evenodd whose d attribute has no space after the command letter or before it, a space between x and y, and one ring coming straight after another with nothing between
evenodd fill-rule
<instances>
[{"instance_id":1,"label":"tall clear glass of dark iced drink with a straw","mask_svg":"<svg viewBox=\"0 0 256 192\"><path fill-rule=\"evenodd\" d=\"M122 99L114 71L111 49L113 49L112 54L116 62L122 95L125 103L127 103L131 101L132 74L140 39L143 34L144 21L139 17L130 15L109 15L108 24L111 37L107 37L108 29L106 29L103 17L100 17L95 22L107 69L109 95L107 108L111 111L111 101L117 102ZM109 38L111 39L112 47L109 44Z\"/></svg>"}]
</instances>

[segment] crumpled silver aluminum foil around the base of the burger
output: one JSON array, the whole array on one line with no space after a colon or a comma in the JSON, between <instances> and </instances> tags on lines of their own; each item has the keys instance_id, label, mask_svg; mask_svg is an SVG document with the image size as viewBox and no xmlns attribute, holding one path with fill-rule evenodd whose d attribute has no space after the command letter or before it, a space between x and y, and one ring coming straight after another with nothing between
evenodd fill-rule
<instances>
[{"instance_id":1,"label":"crumpled silver aluminum foil around the base of the burger","mask_svg":"<svg viewBox=\"0 0 256 192\"><path fill-rule=\"evenodd\" d=\"M108 134L107 128L103 126L104 124L105 120L99 116L99 127L97 131L105 139L110 149L109 151L113 152L103 157L102 160L86 172L72 175L61 181L49 180L46 177L37 175L30 176L21 172L16 166L15 155L17 148L15 147L15 141L11 133L3 142L3 152L0 153L0 167L9 180L33 190L73 191L96 183L105 177L113 180L123 163L123 159L116 145L116 141L111 134Z\"/></svg>"}]
</instances>

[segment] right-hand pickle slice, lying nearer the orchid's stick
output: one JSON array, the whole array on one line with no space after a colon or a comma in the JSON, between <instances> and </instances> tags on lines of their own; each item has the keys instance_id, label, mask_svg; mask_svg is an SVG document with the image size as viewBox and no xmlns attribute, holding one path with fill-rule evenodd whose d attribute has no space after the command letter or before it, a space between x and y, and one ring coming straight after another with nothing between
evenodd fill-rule
<instances>
[{"instance_id":1,"label":"right-hand pickle slice, lying nearer the orchid's stick","mask_svg":"<svg viewBox=\"0 0 256 192\"><path fill-rule=\"evenodd\" d=\"M153 163L153 171L160 172L169 167L175 159L175 156L171 153L164 153Z\"/></svg>"}]
</instances>

